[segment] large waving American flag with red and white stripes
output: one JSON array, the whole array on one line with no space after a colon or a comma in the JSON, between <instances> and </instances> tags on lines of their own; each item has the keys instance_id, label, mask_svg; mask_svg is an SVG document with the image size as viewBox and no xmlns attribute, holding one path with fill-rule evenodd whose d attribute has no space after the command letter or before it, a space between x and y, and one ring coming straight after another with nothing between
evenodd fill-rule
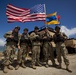
<instances>
[{"instance_id":1,"label":"large waving American flag with red and white stripes","mask_svg":"<svg viewBox=\"0 0 76 75\"><path fill-rule=\"evenodd\" d=\"M7 5L6 15L8 22L45 21L45 6L38 4L31 9L17 8L11 4Z\"/></svg>"}]
</instances>

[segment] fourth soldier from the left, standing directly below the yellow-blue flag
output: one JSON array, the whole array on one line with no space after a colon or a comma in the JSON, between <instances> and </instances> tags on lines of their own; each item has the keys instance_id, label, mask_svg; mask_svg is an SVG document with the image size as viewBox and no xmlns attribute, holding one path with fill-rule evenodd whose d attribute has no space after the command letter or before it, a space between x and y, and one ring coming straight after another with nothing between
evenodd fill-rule
<instances>
[{"instance_id":1,"label":"fourth soldier from the left, standing directly below the yellow-blue flag","mask_svg":"<svg viewBox=\"0 0 76 75\"><path fill-rule=\"evenodd\" d=\"M52 65L55 66L55 60L54 60L54 51L52 49L52 36L49 34L49 31L47 28L44 29L44 34L42 35L43 39L43 54L45 57L46 65L45 67L48 68L48 59L50 56L50 59L52 61Z\"/></svg>"}]
</instances>

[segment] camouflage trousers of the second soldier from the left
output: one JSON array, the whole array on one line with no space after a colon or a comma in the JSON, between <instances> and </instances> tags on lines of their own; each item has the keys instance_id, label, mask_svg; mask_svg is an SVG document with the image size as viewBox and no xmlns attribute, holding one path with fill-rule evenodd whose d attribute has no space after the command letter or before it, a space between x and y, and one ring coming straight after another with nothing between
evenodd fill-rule
<instances>
[{"instance_id":1,"label":"camouflage trousers of the second soldier from the left","mask_svg":"<svg viewBox=\"0 0 76 75\"><path fill-rule=\"evenodd\" d=\"M27 54L27 47L26 47L26 45L21 45L21 49L18 50L18 56L17 56L17 62L19 64L20 63L24 63L26 54Z\"/></svg>"}]
</instances>

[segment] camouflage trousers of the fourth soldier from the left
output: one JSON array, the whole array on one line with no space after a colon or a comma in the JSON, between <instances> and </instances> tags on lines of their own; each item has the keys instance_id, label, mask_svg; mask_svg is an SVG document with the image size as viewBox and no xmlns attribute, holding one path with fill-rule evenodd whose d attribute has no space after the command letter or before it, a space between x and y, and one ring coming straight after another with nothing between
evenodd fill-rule
<instances>
[{"instance_id":1,"label":"camouflage trousers of the fourth soldier from the left","mask_svg":"<svg viewBox=\"0 0 76 75\"><path fill-rule=\"evenodd\" d=\"M55 64L54 51L52 49L52 46L48 42L45 42L43 44L43 54L44 54L44 57L45 57L46 64L48 64L49 56L50 56L50 59L52 61L52 64Z\"/></svg>"}]
</instances>

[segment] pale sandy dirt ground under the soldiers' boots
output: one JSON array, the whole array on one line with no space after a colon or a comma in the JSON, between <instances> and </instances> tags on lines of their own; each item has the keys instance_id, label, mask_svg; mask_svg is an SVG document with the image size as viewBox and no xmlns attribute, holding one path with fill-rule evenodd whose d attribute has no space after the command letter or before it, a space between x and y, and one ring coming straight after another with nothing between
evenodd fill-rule
<instances>
[{"instance_id":1,"label":"pale sandy dirt ground under the soldiers' boots","mask_svg":"<svg viewBox=\"0 0 76 75\"><path fill-rule=\"evenodd\" d=\"M30 67L30 61L26 63L26 68L20 67L18 70L8 70L8 73L3 73L2 67L0 67L0 75L76 75L76 54L69 54L68 58L70 60L70 71L65 69L65 64L62 62L62 69L51 66L51 61L49 60L49 68L46 68L44 65L38 67L34 70ZM56 59L55 59L56 60ZM57 63L57 60L56 60ZM57 63L58 64L58 63Z\"/></svg>"}]
</instances>

